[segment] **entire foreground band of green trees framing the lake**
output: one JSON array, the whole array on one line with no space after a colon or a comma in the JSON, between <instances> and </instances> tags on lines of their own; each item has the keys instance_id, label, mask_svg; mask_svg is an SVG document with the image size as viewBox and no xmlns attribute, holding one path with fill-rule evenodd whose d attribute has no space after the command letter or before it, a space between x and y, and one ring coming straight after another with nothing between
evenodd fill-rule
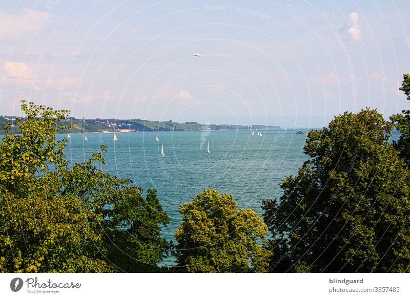
<instances>
[{"instance_id":1,"label":"entire foreground band of green trees framing the lake","mask_svg":"<svg viewBox=\"0 0 410 298\"><path fill-rule=\"evenodd\" d=\"M410 76L400 88L410 101ZM70 164L56 140L69 111L22 101L0 141L0 272L408 272L410 110L344 112L305 140L262 218L204 189L171 218L155 189L103 172L107 147ZM69 124L71 127L73 123ZM391 132L400 133L389 142ZM189 200L189 198L185 198ZM173 256L175 266L159 267Z\"/></svg>"}]
</instances>

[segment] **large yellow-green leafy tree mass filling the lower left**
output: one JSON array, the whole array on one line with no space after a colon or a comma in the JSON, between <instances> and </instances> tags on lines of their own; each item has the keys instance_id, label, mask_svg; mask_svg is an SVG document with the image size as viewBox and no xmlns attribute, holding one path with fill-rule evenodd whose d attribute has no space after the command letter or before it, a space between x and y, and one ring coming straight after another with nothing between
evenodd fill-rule
<instances>
[{"instance_id":1,"label":"large yellow-green leafy tree mass filling the lower left","mask_svg":"<svg viewBox=\"0 0 410 298\"><path fill-rule=\"evenodd\" d=\"M67 139L56 140L68 111L25 101L22 110L22 134L0 143L0 271L155 269L168 249L160 226L170 221L155 190L143 198L130 180L103 173L105 146L69 165Z\"/></svg>"}]
</instances>

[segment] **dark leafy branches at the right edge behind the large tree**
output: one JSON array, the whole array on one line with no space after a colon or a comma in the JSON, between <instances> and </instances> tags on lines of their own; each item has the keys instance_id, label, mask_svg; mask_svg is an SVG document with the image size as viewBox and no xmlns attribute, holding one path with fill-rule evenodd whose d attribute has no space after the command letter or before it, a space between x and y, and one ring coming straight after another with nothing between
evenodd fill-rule
<instances>
[{"instance_id":1,"label":"dark leafy branches at the right edge behind the large tree","mask_svg":"<svg viewBox=\"0 0 410 298\"><path fill-rule=\"evenodd\" d=\"M410 101L410 76L403 75L402 87L399 90L403 91ZM396 130L401 133L399 140L393 142L396 150L400 152L400 156L408 163L410 161L410 110L401 111L403 114L390 116Z\"/></svg>"}]
</instances>

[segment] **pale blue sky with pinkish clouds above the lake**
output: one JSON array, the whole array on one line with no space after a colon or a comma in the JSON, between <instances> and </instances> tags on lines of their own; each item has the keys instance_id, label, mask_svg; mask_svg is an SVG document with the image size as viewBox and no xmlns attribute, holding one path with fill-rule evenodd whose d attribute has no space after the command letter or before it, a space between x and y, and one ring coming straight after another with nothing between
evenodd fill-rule
<instances>
[{"instance_id":1,"label":"pale blue sky with pinkish clouds above the lake","mask_svg":"<svg viewBox=\"0 0 410 298\"><path fill-rule=\"evenodd\" d=\"M410 109L406 1L0 1L0 115L325 126ZM193 53L200 53L200 57Z\"/></svg>"}]
</instances>

